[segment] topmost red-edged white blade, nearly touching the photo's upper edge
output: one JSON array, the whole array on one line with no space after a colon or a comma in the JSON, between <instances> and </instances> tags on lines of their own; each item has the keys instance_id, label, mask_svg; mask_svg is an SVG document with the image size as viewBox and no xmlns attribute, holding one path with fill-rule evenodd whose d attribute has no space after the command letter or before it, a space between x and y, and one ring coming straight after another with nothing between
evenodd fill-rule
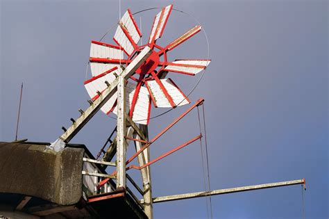
<instances>
[{"instance_id":1,"label":"topmost red-edged white blade, nearly touching the photo's upper edge","mask_svg":"<svg viewBox=\"0 0 329 219\"><path fill-rule=\"evenodd\" d=\"M173 5L169 5L165 8L162 8L160 13L158 13L158 15L154 17L149 43L154 43L156 40L158 40L158 38L161 38L172 8Z\"/></svg>"}]
</instances>

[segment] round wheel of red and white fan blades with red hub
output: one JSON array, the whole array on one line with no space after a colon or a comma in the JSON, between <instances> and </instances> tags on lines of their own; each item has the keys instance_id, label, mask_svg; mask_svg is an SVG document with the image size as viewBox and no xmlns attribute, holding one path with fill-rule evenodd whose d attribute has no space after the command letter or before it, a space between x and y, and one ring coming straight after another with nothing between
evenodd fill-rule
<instances>
[{"instance_id":1,"label":"round wheel of red and white fan blades with red hub","mask_svg":"<svg viewBox=\"0 0 329 219\"><path fill-rule=\"evenodd\" d=\"M182 90L171 79L165 79L165 76L168 72L195 75L204 70L210 60L180 59L172 62L167 60L168 51L201 31L201 26L194 26L166 47L158 45L157 40L162 37L172 8L173 6L169 5L155 15L147 44L138 46L142 33L129 9L120 19L113 38L117 46L92 41L90 67L93 77L85 81L85 88L92 99L99 97L99 92L103 92L107 84L112 83L121 74L120 65L128 65L135 58L135 54L145 46L149 46L153 50L151 56L135 71L130 77L131 81L127 83L128 115L134 122L149 124L151 102L155 107L165 108L189 104L189 99ZM155 48L157 51L154 50ZM127 58L124 58L124 54ZM116 106L117 93L110 97L101 110L106 114L117 114Z\"/></svg>"}]
</instances>

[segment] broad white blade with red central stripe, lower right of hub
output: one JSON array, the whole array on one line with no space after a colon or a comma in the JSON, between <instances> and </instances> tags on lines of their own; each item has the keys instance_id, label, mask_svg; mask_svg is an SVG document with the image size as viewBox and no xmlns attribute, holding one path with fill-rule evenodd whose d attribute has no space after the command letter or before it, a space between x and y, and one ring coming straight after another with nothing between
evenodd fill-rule
<instances>
[{"instance_id":1,"label":"broad white blade with red central stripe, lower right of hub","mask_svg":"<svg viewBox=\"0 0 329 219\"><path fill-rule=\"evenodd\" d=\"M155 107L173 107L169 102L169 99L172 99L176 106L183 106L185 104L189 104L189 99L185 96L185 94L176 86L174 81L171 79L160 79L162 85L170 97L167 97L163 88L161 88L160 84L155 81L146 81L146 88L149 89L149 94L151 95L152 102Z\"/></svg>"}]
</instances>

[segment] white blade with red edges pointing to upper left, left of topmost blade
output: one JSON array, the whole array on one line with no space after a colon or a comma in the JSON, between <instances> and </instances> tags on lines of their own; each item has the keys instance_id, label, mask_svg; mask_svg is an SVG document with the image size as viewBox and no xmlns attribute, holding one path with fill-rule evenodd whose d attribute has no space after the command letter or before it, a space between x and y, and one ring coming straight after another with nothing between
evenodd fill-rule
<instances>
[{"instance_id":1,"label":"white blade with red edges pointing to upper left, left of topmost blade","mask_svg":"<svg viewBox=\"0 0 329 219\"><path fill-rule=\"evenodd\" d=\"M128 9L120 19L117 31L113 40L124 49L124 52L130 56L137 49L137 43L140 41L142 33L135 22L133 15Z\"/></svg>"}]
</instances>

